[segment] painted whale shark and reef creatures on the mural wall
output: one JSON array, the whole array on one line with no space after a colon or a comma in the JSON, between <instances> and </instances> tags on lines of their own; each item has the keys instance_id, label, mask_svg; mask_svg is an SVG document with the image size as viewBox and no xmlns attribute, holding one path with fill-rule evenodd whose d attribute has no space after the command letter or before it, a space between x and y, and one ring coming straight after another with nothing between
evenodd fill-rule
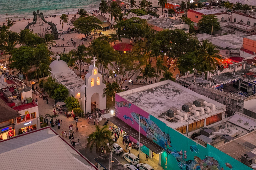
<instances>
[{"instance_id":1,"label":"painted whale shark and reef creatures on the mural wall","mask_svg":"<svg viewBox=\"0 0 256 170\"><path fill-rule=\"evenodd\" d=\"M163 132L152 120L141 116L136 112L131 113L132 118L139 125L140 118L140 127L146 132L146 136L159 144L164 150L171 154L177 161L177 165L182 170L224 170L223 167L220 167L218 160L215 160L213 157L205 156L204 159L194 156L192 160L187 159L187 151L177 151L171 144L171 139L168 133ZM192 153L199 153L199 149L196 145L191 145L190 150ZM165 157L165 168L167 169L167 157ZM232 168L229 163L226 163L228 168Z\"/></svg>"}]
</instances>

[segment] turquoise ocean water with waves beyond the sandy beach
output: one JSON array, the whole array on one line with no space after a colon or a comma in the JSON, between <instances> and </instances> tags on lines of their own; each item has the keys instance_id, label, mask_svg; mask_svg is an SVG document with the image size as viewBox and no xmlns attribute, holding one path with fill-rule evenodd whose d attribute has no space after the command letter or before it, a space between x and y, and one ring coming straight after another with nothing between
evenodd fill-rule
<instances>
[{"instance_id":1,"label":"turquoise ocean water with waves beyond the sandy beach","mask_svg":"<svg viewBox=\"0 0 256 170\"><path fill-rule=\"evenodd\" d=\"M44 16L68 14L68 12L76 14L80 8L87 12L96 10L99 8L99 3L100 0L0 0L0 19L33 17L33 11L37 10Z\"/></svg>"}]
</instances>

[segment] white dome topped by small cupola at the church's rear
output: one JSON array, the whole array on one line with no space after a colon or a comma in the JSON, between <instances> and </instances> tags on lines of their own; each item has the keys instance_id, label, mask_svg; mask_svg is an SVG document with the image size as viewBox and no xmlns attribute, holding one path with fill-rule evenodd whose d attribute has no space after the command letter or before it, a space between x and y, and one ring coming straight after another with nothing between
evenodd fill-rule
<instances>
[{"instance_id":1,"label":"white dome topped by small cupola at the church's rear","mask_svg":"<svg viewBox=\"0 0 256 170\"><path fill-rule=\"evenodd\" d=\"M63 61L63 60L60 60L60 56L58 55L56 57L57 59L55 61L53 61L51 64L50 64L50 68L51 68L51 72L53 74L56 74L56 73L63 73L63 72L66 72L66 71L72 71L69 67L68 67L68 64Z\"/></svg>"}]
</instances>

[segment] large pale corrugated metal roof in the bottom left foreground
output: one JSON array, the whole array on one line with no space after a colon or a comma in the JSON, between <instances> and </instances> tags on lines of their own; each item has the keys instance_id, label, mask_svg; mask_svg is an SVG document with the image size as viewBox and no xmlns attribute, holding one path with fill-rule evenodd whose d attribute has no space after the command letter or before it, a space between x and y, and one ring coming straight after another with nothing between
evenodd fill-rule
<instances>
[{"instance_id":1,"label":"large pale corrugated metal roof in the bottom left foreground","mask_svg":"<svg viewBox=\"0 0 256 170\"><path fill-rule=\"evenodd\" d=\"M0 159L5 170L98 170L50 127L0 141Z\"/></svg>"}]
</instances>

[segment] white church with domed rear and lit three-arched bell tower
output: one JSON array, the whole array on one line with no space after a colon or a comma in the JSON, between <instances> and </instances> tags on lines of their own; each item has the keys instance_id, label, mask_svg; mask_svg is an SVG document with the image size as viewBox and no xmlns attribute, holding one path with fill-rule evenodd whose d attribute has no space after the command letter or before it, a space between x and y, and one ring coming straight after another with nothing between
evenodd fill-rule
<instances>
[{"instance_id":1,"label":"white church with domed rear and lit three-arched bell tower","mask_svg":"<svg viewBox=\"0 0 256 170\"><path fill-rule=\"evenodd\" d=\"M106 96L103 97L103 90L106 85L102 82L102 75L98 68L95 67L95 57L93 57L93 65L89 66L89 72L85 75L85 81L78 77L67 63L56 56L56 60L50 64L50 72L52 78L56 82L64 85L69 92L69 96L79 100L81 109L84 113L91 112L93 106L100 110L106 109Z\"/></svg>"}]
</instances>

